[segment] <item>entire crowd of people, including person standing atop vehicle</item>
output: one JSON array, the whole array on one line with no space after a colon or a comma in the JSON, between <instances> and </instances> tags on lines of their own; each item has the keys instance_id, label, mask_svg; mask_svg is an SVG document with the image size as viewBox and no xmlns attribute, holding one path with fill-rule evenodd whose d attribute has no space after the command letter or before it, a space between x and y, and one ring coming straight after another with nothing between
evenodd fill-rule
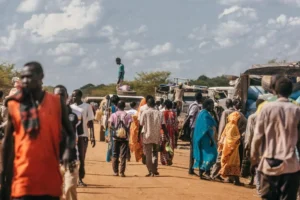
<instances>
[{"instance_id":1,"label":"entire crowd of people, including person standing atop vehicle","mask_svg":"<svg viewBox=\"0 0 300 200\"><path fill-rule=\"evenodd\" d=\"M117 60L121 65L121 60ZM124 76L120 71L120 83ZM170 100L148 95L139 105L117 95L107 96L94 112L82 101L80 90L71 97L63 85L53 94L42 87L40 63L26 63L17 88L4 98L0 92L0 199L77 199L77 187L86 187L85 156L95 147L94 120L102 122L107 143L106 161L114 176L126 177L133 154L146 166L146 177L159 176L158 163L173 165L179 137L189 138L189 175L201 180L242 186L250 177L266 200L296 200L299 188L300 107L289 100L291 80L272 78L272 101L258 99L248 119L239 99L228 99L219 117L214 101L199 92L189 106L182 131L178 115L183 90ZM21 84L20 84L21 83ZM99 114L100 113L100 114ZM188 165L188 164L187 164Z\"/></svg>"}]
</instances>

